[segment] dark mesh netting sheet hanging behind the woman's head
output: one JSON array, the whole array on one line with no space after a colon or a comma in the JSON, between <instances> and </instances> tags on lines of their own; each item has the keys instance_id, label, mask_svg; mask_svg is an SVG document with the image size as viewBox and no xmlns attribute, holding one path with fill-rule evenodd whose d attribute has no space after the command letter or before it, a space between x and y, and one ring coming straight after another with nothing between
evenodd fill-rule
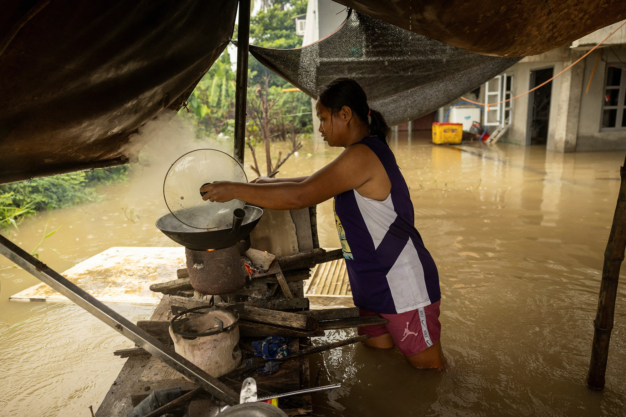
<instances>
[{"instance_id":1,"label":"dark mesh netting sheet hanging behind the woman's head","mask_svg":"<svg viewBox=\"0 0 626 417\"><path fill-rule=\"evenodd\" d=\"M353 78L389 125L427 115L521 59L464 51L357 11L316 43L295 49L250 45L250 53L314 98L334 78Z\"/></svg>"}]
</instances>

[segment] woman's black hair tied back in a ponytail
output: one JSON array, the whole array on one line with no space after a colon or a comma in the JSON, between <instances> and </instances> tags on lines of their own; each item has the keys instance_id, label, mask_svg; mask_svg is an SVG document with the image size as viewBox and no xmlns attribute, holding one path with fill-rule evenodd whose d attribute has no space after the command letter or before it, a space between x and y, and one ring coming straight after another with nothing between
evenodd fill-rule
<instances>
[{"instance_id":1,"label":"woman's black hair tied back in a ponytail","mask_svg":"<svg viewBox=\"0 0 626 417\"><path fill-rule=\"evenodd\" d=\"M363 88L351 78L335 78L327 85L319 89L317 100L322 106L331 110L331 114L338 113L343 106L348 106L352 114L364 121L372 136L378 136L382 142L387 143L389 126L380 111L369 108L367 96ZM367 121L367 113L371 121Z\"/></svg>"}]
</instances>

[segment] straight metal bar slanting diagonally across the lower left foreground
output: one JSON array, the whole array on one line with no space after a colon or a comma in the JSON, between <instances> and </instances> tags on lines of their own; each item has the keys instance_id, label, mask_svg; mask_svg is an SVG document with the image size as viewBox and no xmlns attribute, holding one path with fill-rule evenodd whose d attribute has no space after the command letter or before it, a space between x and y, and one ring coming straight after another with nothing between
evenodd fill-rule
<instances>
[{"instance_id":1,"label":"straight metal bar slanting diagonally across the lower left foreground","mask_svg":"<svg viewBox=\"0 0 626 417\"><path fill-rule=\"evenodd\" d=\"M208 393L213 394L213 396L227 404L239 404L239 394L235 393L235 391L175 353L172 349L167 348L163 343L156 340L155 337L150 336L150 334L135 326L135 324L122 317L118 312L113 311L102 302L90 296L76 284L65 279L36 257L29 255L28 252L13 244L3 235L0 235L0 254L8 257L8 259L22 267L26 272L48 284L55 291L68 297L78 306L83 307L83 309L98 317L108 326L113 327L113 329L135 342L135 344L138 344L138 346L191 379Z\"/></svg>"}]
</instances>

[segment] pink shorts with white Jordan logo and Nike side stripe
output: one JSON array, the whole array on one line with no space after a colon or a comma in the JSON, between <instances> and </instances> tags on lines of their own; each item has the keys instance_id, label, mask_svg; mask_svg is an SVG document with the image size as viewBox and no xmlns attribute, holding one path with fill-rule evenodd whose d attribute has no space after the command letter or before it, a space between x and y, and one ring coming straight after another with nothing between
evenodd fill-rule
<instances>
[{"instance_id":1,"label":"pink shorts with white Jordan logo and Nike side stripe","mask_svg":"<svg viewBox=\"0 0 626 417\"><path fill-rule=\"evenodd\" d=\"M403 355L416 355L429 346L433 346L441 337L440 304L441 300L426 307L419 307L417 310L398 314L379 314L389 322L359 327L359 335L369 334L370 337L378 337L389 333ZM361 309L361 317L377 314Z\"/></svg>"}]
</instances>

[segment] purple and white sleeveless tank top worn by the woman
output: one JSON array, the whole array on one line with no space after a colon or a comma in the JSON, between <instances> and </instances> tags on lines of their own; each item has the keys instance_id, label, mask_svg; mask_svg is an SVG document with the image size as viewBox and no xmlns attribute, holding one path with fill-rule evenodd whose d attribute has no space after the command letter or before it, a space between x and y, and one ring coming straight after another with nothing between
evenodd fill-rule
<instances>
[{"instance_id":1,"label":"purple and white sleeveless tank top worn by the woman","mask_svg":"<svg viewBox=\"0 0 626 417\"><path fill-rule=\"evenodd\" d=\"M439 301L437 267L415 228L413 202L396 158L377 136L357 143L376 153L391 181L391 192L384 201L363 197L356 190L334 198L354 305L396 314Z\"/></svg>"}]
</instances>

